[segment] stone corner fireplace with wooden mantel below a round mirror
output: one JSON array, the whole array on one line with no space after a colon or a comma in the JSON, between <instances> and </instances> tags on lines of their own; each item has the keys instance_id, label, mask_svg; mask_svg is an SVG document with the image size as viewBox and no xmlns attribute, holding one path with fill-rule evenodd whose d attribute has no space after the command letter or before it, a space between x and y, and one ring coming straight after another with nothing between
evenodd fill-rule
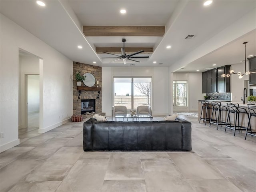
<instances>
[{"instance_id":1,"label":"stone corner fireplace with wooden mantel below a round mirror","mask_svg":"<svg viewBox=\"0 0 256 192\"><path fill-rule=\"evenodd\" d=\"M75 75L76 72L80 71L81 74L91 73L94 75L96 82L99 81L100 94L98 93L97 84L92 87L86 87L84 83L80 87L80 98L79 90L76 85ZM79 62L73 62L73 115L85 114L86 112L102 113L102 97L101 97L101 87L102 87L102 68L94 65L83 64ZM99 98L98 97L99 94ZM87 100L89 103L85 103ZM92 108L92 100L94 100L94 110L89 110ZM84 103L82 103L84 102ZM86 108L88 104L88 108ZM82 111L82 105L84 111Z\"/></svg>"}]
</instances>

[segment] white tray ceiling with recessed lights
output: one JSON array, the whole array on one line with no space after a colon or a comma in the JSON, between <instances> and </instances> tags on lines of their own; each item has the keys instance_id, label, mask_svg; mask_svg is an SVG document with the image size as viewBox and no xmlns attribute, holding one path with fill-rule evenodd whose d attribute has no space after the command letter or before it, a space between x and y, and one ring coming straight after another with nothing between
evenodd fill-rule
<instances>
[{"instance_id":1,"label":"white tray ceiling with recessed lights","mask_svg":"<svg viewBox=\"0 0 256 192\"><path fill-rule=\"evenodd\" d=\"M86 64L96 62L97 66L171 66L178 72L200 72L205 68L239 63L246 52L256 55L256 22L252 27L236 28L223 39L230 42L219 43L221 46L209 47L214 50L187 59L194 50L231 28L246 14L253 12L256 18L255 0L213 0L212 5L203 6L203 0L44 0L45 7L40 7L35 0L0 0L0 11L30 33L34 34L73 61ZM120 9L127 13L121 15ZM165 25L163 37L85 37L83 25ZM247 24L246 24L247 25ZM245 29L244 29L245 28ZM248 28L248 29L247 29ZM254 29L254 30L253 30ZM247 30L247 31L246 31ZM240 33L239 33L240 32ZM187 40L188 34L197 34ZM140 63L112 59L100 59L106 54L96 54L96 46L122 47L122 38L126 38L126 47L153 47L150 58L138 59ZM83 49L79 50L78 45ZM166 49L171 45L171 49ZM201 53L205 52L203 49ZM146 56L147 54L143 54ZM138 56L138 55L137 55ZM157 61L153 64L153 61ZM158 65L158 63L163 63Z\"/></svg>"}]
</instances>

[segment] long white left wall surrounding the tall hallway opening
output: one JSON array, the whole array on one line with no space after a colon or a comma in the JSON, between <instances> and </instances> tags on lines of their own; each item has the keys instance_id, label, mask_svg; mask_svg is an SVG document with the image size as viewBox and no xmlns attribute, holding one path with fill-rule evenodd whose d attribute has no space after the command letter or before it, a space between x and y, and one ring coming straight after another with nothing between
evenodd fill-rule
<instances>
[{"instance_id":1,"label":"long white left wall surrounding the tall hallway opening","mask_svg":"<svg viewBox=\"0 0 256 192\"><path fill-rule=\"evenodd\" d=\"M40 62L40 129L51 130L72 115L72 61L4 15L0 15L0 152L19 144L19 48L42 58ZM3 91L4 90L4 91ZM41 91L42 90L42 91ZM43 117L43 119L42 119Z\"/></svg>"}]
</instances>

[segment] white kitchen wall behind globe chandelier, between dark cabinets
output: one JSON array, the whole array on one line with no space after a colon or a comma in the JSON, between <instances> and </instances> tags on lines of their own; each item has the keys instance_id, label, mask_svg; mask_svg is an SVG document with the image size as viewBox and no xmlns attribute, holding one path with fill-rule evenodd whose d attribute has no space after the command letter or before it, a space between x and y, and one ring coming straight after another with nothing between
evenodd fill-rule
<instances>
[{"instance_id":1,"label":"white kitchen wall behind globe chandelier, between dark cabinets","mask_svg":"<svg viewBox=\"0 0 256 192\"><path fill-rule=\"evenodd\" d=\"M231 65L231 69L234 72L244 72L244 63ZM246 71L248 70L248 62L246 62ZM238 78L237 74L233 74L230 76L230 89L232 93L232 102L242 102L241 98L243 98L243 90L245 88L244 81L248 80L248 75L244 75L242 79Z\"/></svg>"}]
</instances>

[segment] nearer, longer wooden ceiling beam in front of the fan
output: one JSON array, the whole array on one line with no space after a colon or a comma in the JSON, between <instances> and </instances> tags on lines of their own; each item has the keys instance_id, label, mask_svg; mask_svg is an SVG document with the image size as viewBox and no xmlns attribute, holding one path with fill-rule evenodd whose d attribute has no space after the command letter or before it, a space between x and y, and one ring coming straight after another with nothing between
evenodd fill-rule
<instances>
[{"instance_id":1,"label":"nearer, longer wooden ceiling beam in front of the fan","mask_svg":"<svg viewBox=\"0 0 256 192\"><path fill-rule=\"evenodd\" d=\"M83 26L89 36L154 36L162 37L165 26Z\"/></svg>"}]
</instances>

